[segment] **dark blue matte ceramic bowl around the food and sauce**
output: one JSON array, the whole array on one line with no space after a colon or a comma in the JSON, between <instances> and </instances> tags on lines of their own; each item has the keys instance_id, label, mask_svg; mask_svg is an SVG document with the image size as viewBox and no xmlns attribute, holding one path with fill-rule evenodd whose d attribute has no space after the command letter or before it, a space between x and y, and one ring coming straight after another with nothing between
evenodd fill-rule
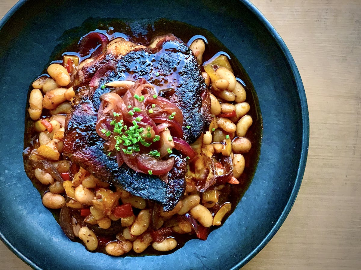
<instances>
[{"instance_id":1,"label":"dark blue matte ceramic bowl around the food and sauce","mask_svg":"<svg viewBox=\"0 0 361 270\"><path fill-rule=\"evenodd\" d=\"M22 161L29 85L48 65L64 33L92 18L159 17L213 33L240 60L257 91L263 140L251 185L208 240L190 240L162 256L90 253L62 233L42 205ZM84 27L84 34L93 29ZM0 22L0 234L35 269L238 269L286 219L304 173L309 138L306 96L286 45L248 1L19 1Z\"/></svg>"}]
</instances>

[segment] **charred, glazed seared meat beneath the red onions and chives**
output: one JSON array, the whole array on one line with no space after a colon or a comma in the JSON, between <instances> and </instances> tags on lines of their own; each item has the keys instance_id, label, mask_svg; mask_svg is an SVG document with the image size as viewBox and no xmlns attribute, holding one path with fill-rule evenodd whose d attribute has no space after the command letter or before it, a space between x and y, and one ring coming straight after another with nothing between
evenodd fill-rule
<instances>
[{"instance_id":1,"label":"charred, glazed seared meat beneath the red onions and chives","mask_svg":"<svg viewBox=\"0 0 361 270\"><path fill-rule=\"evenodd\" d=\"M133 171L124 164L118 167L116 159L105 154L104 140L95 130L99 98L109 92L109 88L102 86L110 81L140 78L156 85L159 95L182 110L184 139L188 143L209 127L209 94L197 58L182 41L166 36L158 39L153 48L132 46L127 42L119 44L123 49L114 43L108 45L108 53L84 66L75 76L76 105L66 120L64 154L98 179L120 186L133 195L160 202L164 211L169 211L185 190L186 159L176 157L168 173L168 183L158 176ZM126 50L124 45L127 45ZM93 80L102 68L103 76Z\"/></svg>"}]
</instances>

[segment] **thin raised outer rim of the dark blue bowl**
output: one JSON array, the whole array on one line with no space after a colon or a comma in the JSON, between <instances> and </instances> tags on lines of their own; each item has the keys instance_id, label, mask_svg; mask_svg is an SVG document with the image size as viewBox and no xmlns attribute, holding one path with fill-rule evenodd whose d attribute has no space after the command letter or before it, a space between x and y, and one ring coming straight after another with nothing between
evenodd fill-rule
<instances>
[{"instance_id":1,"label":"thin raised outer rim of the dark blue bowl","mask_svg":"<svg viewBox=\"0 0 361 270\"><path fill-rule=\"evenodd\" d=\"M23 4L25 4L29 0L19 0L0 20L0 30L3 28L5 23L9 20L9 18L19 9ZM283 41L282 37L279 35L277 30L273 27L273 25L268 21L268 19L261 13L260 10L256 8L255 5L251 3L249 0L239 0L242 2L245 7L253 13L257 19L261 22L261 24L269 31L273 39L275 40L276 44L278 45L280 51L282 52L283 56L287 60L287 64L292 72L293 77L295 78L295 84L298 90L299 98L300 98L300 107L301 107L301 116L302 116L302 147L301 147L301 155L299 160L299 167L297 170L297 175L295 179L295 185L292 188L292 192L290 194L290 198L282 211L281 215L279 216L277 222L272 227L270 232L265 236L265 238L261 241L258 246L253 249L251 253L249 253L246 257L243 258L238 264L231 267L231 269L236 270L240 267L244 266L249 262L253 257L257 255L258 252L261 251L262 248L266 246L266 244L271 240L271 238L277 233L280 226L286 220L288 213L290 213L293 203L296 200L297 194L299 192L301 182L303 179L303 175L305 172L306 167L306 160L308 154L308 146L309 146L309 112L308 112L308 105L306 99L306 93L303 86L303 82L299 73L299 70L296 66L295 60L293 59L290 50L288 50L285 42ZM1 241L7 246L18 258L20 258L23 262L34 269L40 269L34 262L29 260L25 255L23 255L16 247L14 247L10 242L4 237L4 235L0 232L0 239Z\"/></svg>"}]
</instances>

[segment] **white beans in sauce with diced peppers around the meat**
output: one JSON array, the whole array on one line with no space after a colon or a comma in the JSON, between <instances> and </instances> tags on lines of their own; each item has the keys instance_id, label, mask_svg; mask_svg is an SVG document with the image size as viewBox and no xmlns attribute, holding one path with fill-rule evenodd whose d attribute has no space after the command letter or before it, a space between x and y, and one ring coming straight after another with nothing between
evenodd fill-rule
<instances>
[{"instance_id":1,"label":"white beans in sauce with diced peppers around the meat","mask_svg":"<svg viewBox=\"0 0 361 270\"><path fill-rule=\"evenodd\" d=\"M201 64L205 49L203 40L195 40L190 49ZM87 59L79 63L79 59L73 58L75 69L90 61ZM64 63L67 63L66 59ZM34 150L41 158L51 161L58 172L63 174L69 172L70 169L70 162L61 155L65 114L72 108L75 93L73 87L70 87L70 74L64 66L53 63L47 71L49 76L39 77L33 82L34 89L30 92L29 98L29 116L34 120L34 129L39 134ZM216 73L219 79L213 82L206 72L202 74L211 92L211 112L214 120L210 130L202 135L200 140L203 142L202 148L207 153L231 156L233 174L239 178L245 166L243 154L251 149L251 142L245 137L252 125L252 117L247 114L250 106L245 102L246 93L243 86L232 72L227 68L219 67ZM44 115L43 109L47 109L49 115ZM220 114L233 111L236 113L235 117L219 117ZM42 123L43 120L52 126L51 132L47 131L46 125ZM230 139L226 138L226 135L229 135ZM196 166L201 170L204 164L196 162ZM48 191L43 196L45 207L60 209L66 205L74 211L89 209L90 214L84 217L83 224L97 225L102 229L109 229L113 221L121 220L124 229L118 232L116 239L106 243L105 252L109 255L121 256L131 250L142 253L149 246L157 251L166 252L178 245L174 237L168 237L162 242L152 239L152 234L148 230L152 209L149 208L150 204L147 200L118 188L113 192L109 189L108 183L101 182L83 168L80 168L73 179L63 183L55 181L50 174L40 168L35 168L34 176L40 183L48 186ZM160 212L157 228L171 228L175 234L194 233L190 222L178 218L179 215L188 212L205 228L221 225L223 217L231 210L230 203L218 205L217 211L212 209L215 209L213 207L218 204L224 186L213 186L204 193L200 193L194 183L187 182L186 192L177 206L169 212ZM101 195L98 194L99 190L102 190ZM104 208L104 205L98 202L99 196L103 196L103 201L111 203ZM126 218L114 216L114 208L125 203L130 203L132 208L138 209L138 215ZM77 222L73 222L72 226L75 236L88 250L95 251L98 248L99 239L94 231Z\"/></svg>"}]
</instances>

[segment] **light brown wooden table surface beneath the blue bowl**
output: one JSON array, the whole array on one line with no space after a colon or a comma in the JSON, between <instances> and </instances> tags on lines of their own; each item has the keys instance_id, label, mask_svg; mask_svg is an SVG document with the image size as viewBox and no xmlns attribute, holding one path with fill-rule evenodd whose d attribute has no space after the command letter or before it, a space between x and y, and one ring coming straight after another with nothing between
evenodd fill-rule
<instances>
[{"instance_id":1,"label":"light brown wooden table surface beneath the blue bowl","mask_svg":"<svg viewBox=\"0 0 361 270\"><path fill-rule=\"evenodd\" d=\"M361 1L252 0L295 59L310 144L286 221L243 269L361 269ZM0 0L0 17L16 0ZM0 242L0 269L30 269Z\"/></svg>"}]
</instances>

